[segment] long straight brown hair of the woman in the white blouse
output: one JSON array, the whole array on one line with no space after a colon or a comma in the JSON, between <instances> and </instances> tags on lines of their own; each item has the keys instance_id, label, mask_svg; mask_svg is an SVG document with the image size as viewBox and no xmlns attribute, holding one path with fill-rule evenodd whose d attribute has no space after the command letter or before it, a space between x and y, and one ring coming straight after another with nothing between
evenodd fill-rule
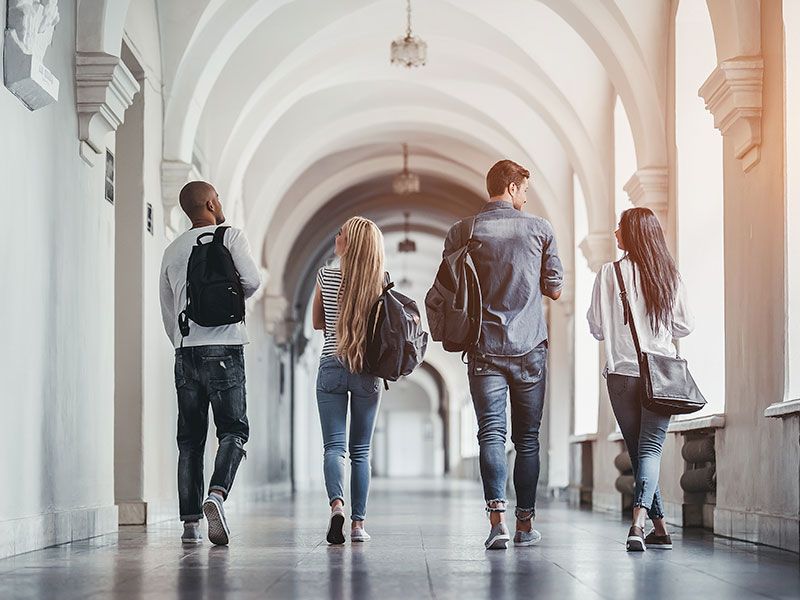
<instances>
[{"instance_id":1,"label":"long straight brown hair of the woman in the white blouse","mask_svg":"<svg viewBox=\"0 0 800 600\"><path fill-rule=\"evenodd\" d=\"M629 208L619 219L619 229L626 256L634 265L634 283L637 271L641 278L650 327L654 332L659 324L669 329L680 274L658 217L649 208Z\"/></svg>"}]
</instances>

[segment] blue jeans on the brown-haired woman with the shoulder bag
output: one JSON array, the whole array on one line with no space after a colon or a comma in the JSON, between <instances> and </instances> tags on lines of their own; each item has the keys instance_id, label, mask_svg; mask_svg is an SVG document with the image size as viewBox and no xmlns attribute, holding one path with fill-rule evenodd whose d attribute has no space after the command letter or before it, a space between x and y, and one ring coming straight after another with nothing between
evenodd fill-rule
<instances>
[{"instance_id":1,"label":"blue jeans on the brown-haired woman with the shoulder bag","mask_svg":"<svg viewBox=\"0 0 800 600\"><path fill-rule=\"evenodd\" d=\"M660 415L642 407L642 381L639 377L609 373L608 396L617 418L636 481L633 505L647 509L651 519L663 519L658 474L661 470L661 448L667 437L669 415Z\"/></svg>"}]
</instances>

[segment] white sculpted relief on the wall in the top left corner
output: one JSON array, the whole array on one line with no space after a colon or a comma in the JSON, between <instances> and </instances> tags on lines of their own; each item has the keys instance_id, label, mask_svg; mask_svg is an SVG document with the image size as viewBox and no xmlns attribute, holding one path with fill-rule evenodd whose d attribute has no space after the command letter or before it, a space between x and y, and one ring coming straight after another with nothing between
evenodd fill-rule
<instances>
[{"instance_id":1,"label":"white sculpted relief on the wall in the top left corner","mask_svg":"<svg viewBox=\"0 0 800 600\"><path fill-rule=\"evenodd\" d=\"M59 19L58 0L8 1L4 83L31 111L58 100L58 79L43 61Z\"/></svg>"}]
</instances>

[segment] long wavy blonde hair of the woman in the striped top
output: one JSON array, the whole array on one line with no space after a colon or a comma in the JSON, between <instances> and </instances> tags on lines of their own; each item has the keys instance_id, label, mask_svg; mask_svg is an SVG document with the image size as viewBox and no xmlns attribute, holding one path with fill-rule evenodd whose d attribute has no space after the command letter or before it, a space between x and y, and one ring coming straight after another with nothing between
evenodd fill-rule
<instances>
[{"instance_id":1,"label":"long wavy blonde hair of the woman in the striped top","mask_svg":"<svg viewBox=\"0 0 800 600\"><path fill-rule=\"evenodd\" d=\"M347 242L341 259L336 355L350 371L360 373L369 311L383 292L383 234L364 217L351 217L342 230Z\"/></svg>"}]
</instances>

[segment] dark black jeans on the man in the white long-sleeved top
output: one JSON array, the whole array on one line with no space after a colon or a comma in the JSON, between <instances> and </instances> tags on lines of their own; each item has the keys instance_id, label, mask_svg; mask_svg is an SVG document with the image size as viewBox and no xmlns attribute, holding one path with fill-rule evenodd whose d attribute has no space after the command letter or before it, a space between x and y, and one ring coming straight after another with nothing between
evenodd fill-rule
<instances>
[{"instance_id":1,"label":"dark black jeans on the man in the white long-sleeved top","mask_svg":"<svg viewBox=\"0 0 800 600\"><path fill-rule=\"evenodd\" d=\"M178 500L182 521L203 517L203 457L208 407L214 411L217 457L211 490L224 498L233 485L250 435L242 346L195 346L175 350L178 391Z\"/></svg>"}]
</instances>

